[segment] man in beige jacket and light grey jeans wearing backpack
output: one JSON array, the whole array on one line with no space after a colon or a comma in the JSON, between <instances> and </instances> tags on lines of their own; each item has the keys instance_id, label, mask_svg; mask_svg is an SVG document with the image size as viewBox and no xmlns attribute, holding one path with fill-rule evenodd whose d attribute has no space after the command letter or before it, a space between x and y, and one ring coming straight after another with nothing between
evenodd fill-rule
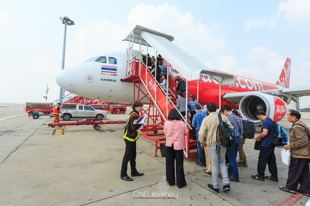
<instances>
[{"instance_id":1,"label":"man in beige jacket and light grey jeans wearing backpack","mask_svg":"<svg viewBox=\"0 0 310 206\"><path fill-rule=\"evenodd\" d=\"M219 193L219 168L223 177L223 191L230 191L230 185L227 168L224 162L226 148L222 146L221 139L219 137L219 132L217 129L219 117L216 113L216 109L215 103L207 104L207 111L209 115L202 120L198 135L201 147L203 148L208 146L211 160L212 184L208 184L208 187L211 191ZM228 124L229 128L233 129L232 124L230 124L226 116L221 116L222 120Z\"/></svg>"}]
</instances>

